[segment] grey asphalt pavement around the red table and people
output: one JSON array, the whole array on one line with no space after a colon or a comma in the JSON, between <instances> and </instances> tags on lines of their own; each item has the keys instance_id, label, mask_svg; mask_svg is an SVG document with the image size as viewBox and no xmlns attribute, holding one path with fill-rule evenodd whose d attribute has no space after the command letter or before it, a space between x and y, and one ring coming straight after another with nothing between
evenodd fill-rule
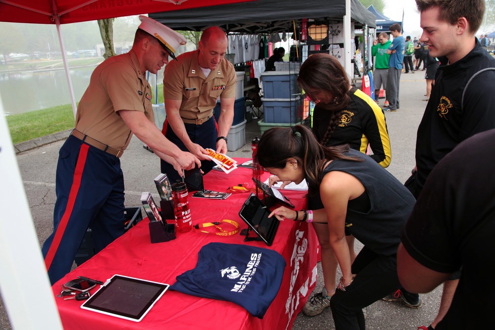
<instances>
[{"instance_id":1,"label":"grey asphalt pavement around the red table and people","mask_svg":"<svg viewBox=\"0 0 495 330\"><path fill-rule=\"evenodd\" d=\"M405 182L414 167L414 147L416 131L421 121L426 102L424 72L402 73L400 79L400 108L396 112L385 113L392 146L392 162L387 168L400 182ZM384 99L380 100L383 106ZM231 157L250 157L250 141L260 135L258 119L246 124L246 144L229 152ZM17 161L20 168L34 225L41 244L53 229L52 216L55 203L55 170L58 150L70 131L48 137L19 143L16 145ZM153 179L160 173L160 162L156 155L143 147L143 142L133 137L121 158L125 180L126 207L141 206L142 191L156 191ZM158 197L153 193L153 197ZM362 245L356 242L356 249ZM318 265L318 282L315 292L320 292L321 266ZM366 308L368 330L416 330L428 326L435 318L440 304L442 289L437 288L422 294L423 306L411 309L398 302L377 301ZM15 307L11 307L15 308ZM0 301L0 328L11 329L7 313ZM316 317L297 316L294 330L335 329L330 308Z\"/></svg>"}]
</instances>

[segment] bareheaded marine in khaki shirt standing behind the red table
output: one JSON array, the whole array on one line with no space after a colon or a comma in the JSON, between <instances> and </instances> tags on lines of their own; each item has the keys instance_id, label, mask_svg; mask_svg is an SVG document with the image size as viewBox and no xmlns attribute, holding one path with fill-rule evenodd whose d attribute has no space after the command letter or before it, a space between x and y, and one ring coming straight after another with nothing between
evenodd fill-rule
<instances>
[{"instance_id":1,"label":"bareheaded marine in khaki shirt standing behind the red table","mask_svg":"<svg viewBox=\"0 0 495 330\"><path fill-rule=\"evenodd\" d=\"M181 54L165 67L163 95L167 119L162 133L181 150L200 157L211 148L227 153L227 135L234 120L236 72L224 56L227 36L220 28L204 30L195 51ZM213 108L220 97L218 123ZM207 173L214 165L202 161ZM173 182L179 175L171 164L161 161L161 171Z\"/></svg>"}]
</instances>

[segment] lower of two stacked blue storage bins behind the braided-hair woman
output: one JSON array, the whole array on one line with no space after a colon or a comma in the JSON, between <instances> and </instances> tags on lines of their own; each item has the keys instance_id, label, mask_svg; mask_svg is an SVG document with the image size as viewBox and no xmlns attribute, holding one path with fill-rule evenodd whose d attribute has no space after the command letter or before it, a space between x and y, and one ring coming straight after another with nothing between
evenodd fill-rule
<instances>
[{"instance_id":1,"label":"lower of two stacked blue storage bins behind the braided-hair woman","mask_svg":"<svg viewBox=\"0 0 495 330\"><path fill-rule=\"evenodd\" d=\"M296 98L261 98L265 123L297 123L301 120L299 96Z\"/></svg>"}]
</instances>

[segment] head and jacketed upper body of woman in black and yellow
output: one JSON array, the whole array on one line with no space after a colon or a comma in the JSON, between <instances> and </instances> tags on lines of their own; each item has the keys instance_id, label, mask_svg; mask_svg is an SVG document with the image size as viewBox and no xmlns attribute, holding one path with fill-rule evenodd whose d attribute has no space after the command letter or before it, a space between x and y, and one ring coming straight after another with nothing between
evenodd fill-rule
<instances>
[{"instance_id":1,"label":"head and jacketed upper body of woman in black and yellow","mask_svg":"<svg viewBox=\"0 0 495 330\"><path fill-rule=\"evenodd\" d=\"M352 149L370 155L382 167L391 160L385 115L376 102L351 87L339 60L329 54L314 54L302 63L299 86L316 103L313 133L325 146L349 144Z\"/></svg>"}]
</instances>

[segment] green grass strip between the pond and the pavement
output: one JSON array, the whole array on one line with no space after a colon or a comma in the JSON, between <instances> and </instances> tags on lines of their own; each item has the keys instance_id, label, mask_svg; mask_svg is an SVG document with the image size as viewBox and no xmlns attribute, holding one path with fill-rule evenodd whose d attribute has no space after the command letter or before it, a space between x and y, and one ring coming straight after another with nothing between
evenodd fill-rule
<instances>
[{"instance_id":1,"label":"green grass strip between the pond and the pavement","mask_svg":"<svg viewBox=\"0 0 495 330\"><path fill-rule=\"evenodd\" d=\"M163 84L158 85L158 103L163 103ZM14 144L74 128L70 104L14 114L6 119Z\"/></svg>"}]
</instances>

